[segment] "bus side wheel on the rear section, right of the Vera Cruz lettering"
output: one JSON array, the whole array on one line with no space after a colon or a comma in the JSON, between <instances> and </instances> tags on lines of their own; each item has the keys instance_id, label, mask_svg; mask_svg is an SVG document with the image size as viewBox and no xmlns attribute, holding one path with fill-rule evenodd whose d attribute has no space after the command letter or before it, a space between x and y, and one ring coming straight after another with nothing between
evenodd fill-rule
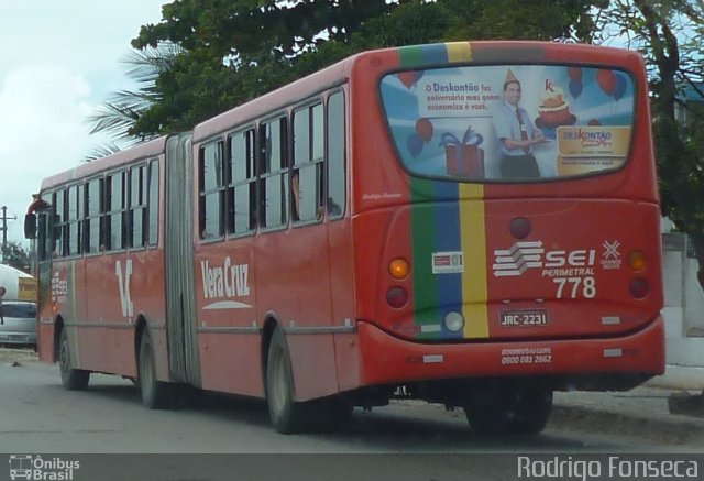
<instances>
[{"instance_id":1,"label":"bus side wheel on the rear section, right of the Vera Cruz lettering","mask_svg":"<svg viewBox=\"0 0 704 481\"><path fill-rule=\"evenodd\" d=\"M266 403L272 425L277 433L292 434L305 426L306 405L294 402L294 379L286 340L280 329L274 330L266 362Z\"/></svg>"}]
</instances>

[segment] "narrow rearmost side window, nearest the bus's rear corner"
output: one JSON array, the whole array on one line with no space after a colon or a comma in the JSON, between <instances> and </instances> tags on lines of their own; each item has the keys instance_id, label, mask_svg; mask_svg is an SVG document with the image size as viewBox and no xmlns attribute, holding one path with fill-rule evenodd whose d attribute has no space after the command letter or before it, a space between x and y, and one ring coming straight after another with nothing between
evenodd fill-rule
<instances>
[{"instance_id":1,"label":"narrow rearmost side window, nearest the bus's rear corner","mask_svg":"<svg viewBox=\"0 0 704 481\"><path fill-rule=\"evenodd\" d=\"M344 95L334 92L328 99L328 216L331 219L344 215L346 198Z\"/></svg>"}]
</instances>

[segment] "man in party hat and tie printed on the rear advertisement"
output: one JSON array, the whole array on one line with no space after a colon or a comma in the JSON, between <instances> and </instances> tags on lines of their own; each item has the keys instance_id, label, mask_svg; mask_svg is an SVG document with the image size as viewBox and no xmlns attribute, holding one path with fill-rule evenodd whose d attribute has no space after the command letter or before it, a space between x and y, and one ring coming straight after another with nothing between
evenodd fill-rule
<instances>
[{"instance_id":1,"label":"man in party hat and tie printed on the rear advertisement","mask_svg":"<svg viewBox=\"0 0 704 481\"><path fill-rule=\"evenodd\" d=\"M531 146L544 142L542 132L534 125L528 112L519 107L520 81L508 69L504 81L504 101L493 117L498 139L503 178L538 178L540 170Z\"/></svg>"}]
</instances>

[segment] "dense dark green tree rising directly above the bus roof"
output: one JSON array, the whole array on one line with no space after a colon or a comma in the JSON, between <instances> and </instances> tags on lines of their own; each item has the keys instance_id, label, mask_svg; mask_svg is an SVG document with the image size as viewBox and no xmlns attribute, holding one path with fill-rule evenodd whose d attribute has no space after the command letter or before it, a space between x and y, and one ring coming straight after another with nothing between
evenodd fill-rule
<instances>
[{"instance_id":1,"label":"dense dark green tree rising directly above the bus roof","mask_svg":"<svg viewBox=\"0 0 704 481\"><path fill-rule=\"evenodd\" d=\"M132 134L187 130L366 48L447 40L588 40L600 1L177 0L142 26L135 48L178 44L155 81L160 97Z\"/></svg>"}]
</instances>

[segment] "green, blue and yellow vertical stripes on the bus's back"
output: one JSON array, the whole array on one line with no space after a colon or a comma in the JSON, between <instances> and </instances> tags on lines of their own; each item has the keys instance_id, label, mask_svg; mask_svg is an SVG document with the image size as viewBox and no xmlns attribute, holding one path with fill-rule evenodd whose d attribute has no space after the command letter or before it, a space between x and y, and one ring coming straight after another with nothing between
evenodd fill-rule
<instances>
[{"instance_id":1,"label":"green, blue and yellow vertical stripes on the bus's back","mask_svg":"<svg viewBox=\"0 0 704 481\"><path fill-rule=\"evenodd\" d=\"M402 67L421 68L472 61L469 42L398 48ZM411 177L411 249L415 323L421 339L488 337L484 186ZM463 272L433 274L433 254L462 252ZM461 311L462 332L442 326Z\"/></svg>"}]
</instances>

